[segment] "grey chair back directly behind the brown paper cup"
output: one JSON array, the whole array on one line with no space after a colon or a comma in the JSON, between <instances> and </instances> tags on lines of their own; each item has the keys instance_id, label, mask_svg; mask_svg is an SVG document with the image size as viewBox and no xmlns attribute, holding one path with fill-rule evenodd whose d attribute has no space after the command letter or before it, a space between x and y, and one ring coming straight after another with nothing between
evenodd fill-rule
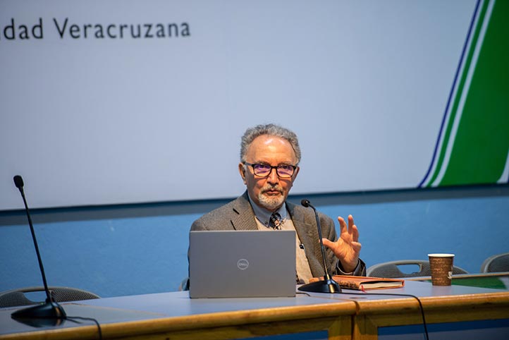
<instances>
[{"instance_id":1,"label":"grey chair back directly behind the brown paper cup","mask_svg":"<svg viewBox=\"0 0 509 340\"><path fill-rule=\"evenodd\" d=\"M400 270L401 267L416 267L416 272L405 273ZM398 260L379 263L372 265L367 269L368 277L429 277L431 276L431 269L429 268L429 261L427 260ZM465 269L460 267L453 267L453 274L468 274Z\"/></svg>"}]
</instances>

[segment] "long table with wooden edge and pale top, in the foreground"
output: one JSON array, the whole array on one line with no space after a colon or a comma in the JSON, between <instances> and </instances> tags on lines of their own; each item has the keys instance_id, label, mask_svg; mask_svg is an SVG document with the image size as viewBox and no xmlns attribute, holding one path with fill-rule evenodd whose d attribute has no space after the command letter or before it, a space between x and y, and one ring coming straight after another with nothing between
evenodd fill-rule
<instances>
[{"instance_id":1,"label":"long table with wooden edge and pale top, in the foreground","mask_svg":"<svg viewBox=\"0 0 509 340\"><path fill-rule=\"evenodd\" d=\"M499 320L507 322L501 334L509 332L508 290L407 280L402 289L344 292L357 295L190 299L188 292L171 292L61 305L68 316L98 320L103 339L239 339L301 332L317 332L314 339L379 339L384 327L414 324L424 332L416 298L376 293L411 294L422 302L429 327ZM59 326L31 327L11 319L17 309L0 309L0 339L98 339L93 322L66 320ZM424 339L422 334L418 339Z\"/></svg>"}]
</instances>

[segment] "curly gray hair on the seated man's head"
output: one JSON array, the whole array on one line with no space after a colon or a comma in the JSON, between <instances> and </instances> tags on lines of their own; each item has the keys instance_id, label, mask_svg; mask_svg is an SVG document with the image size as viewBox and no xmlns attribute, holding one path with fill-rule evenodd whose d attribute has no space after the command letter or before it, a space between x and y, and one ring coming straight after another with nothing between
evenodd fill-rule
<instances>
[{"instance_id":1,"label":"curly gray hair on the seated man's head","mask_svg":"<svg viewBox=\"0 0 509 340\"><path fill-rule=\"evenodd\" d=\"M253 128L248 128L245 130L245 133L240 141L240 162L245 162L245 154L247 153L247 148L251 145L255 138L261 135L274 135L276 137L288 140L290 145L292 145L293 152L295 152L295 157L297 157L297 164L299 164L300 146L297 135L295 135L293 131L288 130L288 128L283 128L282 126L275 124L257 125Z\"/></svg>"}]
</instances>

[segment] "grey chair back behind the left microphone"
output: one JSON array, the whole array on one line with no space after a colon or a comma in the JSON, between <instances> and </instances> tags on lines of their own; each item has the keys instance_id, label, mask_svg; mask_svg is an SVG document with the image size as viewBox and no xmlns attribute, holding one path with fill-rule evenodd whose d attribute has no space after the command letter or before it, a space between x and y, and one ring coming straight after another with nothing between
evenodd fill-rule
<instances>
[{"instance_id":1,"label":"grey chair back behind the left microphone","mask_svg":"<svg viewBox=\"0 0 509 340\"><path fill-rule=\"evenodd\" d=\"M83 291L82 289L59 286L50 286L48 287L48 289L51 298L53 298L55 302L90 300L93 298L100 298L96 294L90 293L90 291ZM0 293L0 308L16 307L21 305L37 305L39 303L44 302L44 301L32 301L29 298L27 298L27 296L25 296L25 293L37 291L44 292L44 287L36 286L12 289L10 291L3 291Z\"/></svg>"}]
</instances>

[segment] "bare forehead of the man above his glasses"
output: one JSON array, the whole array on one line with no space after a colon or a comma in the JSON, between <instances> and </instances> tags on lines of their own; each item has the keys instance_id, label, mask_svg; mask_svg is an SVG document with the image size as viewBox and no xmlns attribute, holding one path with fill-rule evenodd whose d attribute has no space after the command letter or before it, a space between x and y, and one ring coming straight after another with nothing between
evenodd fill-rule
<instances>
[{"instance_id":1,"label":"bare forehead of the man above his glasses","mask_svg":"<svg viewBox=\"0 0 509 340\"><path fill-rule=\"evenodd\" d=\"M247 148L250 162L296 162L295 152L288 140L274 135L260 135Z\"/></svg>"}]
</instances>

